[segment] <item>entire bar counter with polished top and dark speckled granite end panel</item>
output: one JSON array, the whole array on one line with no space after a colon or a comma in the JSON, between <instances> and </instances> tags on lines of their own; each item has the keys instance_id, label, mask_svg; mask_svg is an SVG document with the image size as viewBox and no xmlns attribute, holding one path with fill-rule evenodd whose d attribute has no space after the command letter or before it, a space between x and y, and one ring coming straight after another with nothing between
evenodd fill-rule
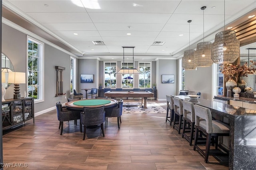
<instances>
[{"instance_id":1,"label":"entire bar counter with polished top and dark speckled granite end panel","mask_svg":"<svg viewBox=\"0 0 256 170\"><path fill-rule=\"evenodd\" d=\"M256 110L188 96L174 96L210 109L214 119L230 125L229 169L256 169Z\"/></svg>"}]
</instances>

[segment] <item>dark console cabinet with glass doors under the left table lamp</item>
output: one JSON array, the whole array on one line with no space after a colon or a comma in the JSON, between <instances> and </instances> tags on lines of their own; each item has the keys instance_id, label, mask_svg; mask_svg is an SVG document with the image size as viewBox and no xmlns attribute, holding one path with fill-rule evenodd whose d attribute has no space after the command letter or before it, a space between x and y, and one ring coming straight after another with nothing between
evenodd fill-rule
<instances>
[{"instance_id":1,"label":"dark console cabinet with glass doors under the left table lamp","mask_svg":"<svg viewBox=\"0 0 256 170\"><path fill-rule=\"evenodd\" d=\"M8 99L2 101L2 129L9 129L34 120L34 98Z\"/></svg>"}]
</instances>

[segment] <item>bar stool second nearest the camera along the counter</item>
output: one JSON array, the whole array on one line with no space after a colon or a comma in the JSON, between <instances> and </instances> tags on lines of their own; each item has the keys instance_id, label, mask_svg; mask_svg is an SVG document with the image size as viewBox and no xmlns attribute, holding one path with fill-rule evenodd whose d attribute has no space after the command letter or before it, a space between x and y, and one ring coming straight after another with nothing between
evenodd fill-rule
<instances>
[{"instance_id":1,"label":"bar stool second nearest the camera along the counter","mask_svg":"<svg viewBox=\"0 0 256 170\"><path fill-rule=\"evenodd\" d=\"M186 100L182 101L183 105L183 132L182 138L185 138L189 145L192 145L194 139L194 127L195 127L195 110L194 104ZM188 123L188 126L186 125ZM190 133L188 136L186 133Z\"/></svg>"}]
</instances>

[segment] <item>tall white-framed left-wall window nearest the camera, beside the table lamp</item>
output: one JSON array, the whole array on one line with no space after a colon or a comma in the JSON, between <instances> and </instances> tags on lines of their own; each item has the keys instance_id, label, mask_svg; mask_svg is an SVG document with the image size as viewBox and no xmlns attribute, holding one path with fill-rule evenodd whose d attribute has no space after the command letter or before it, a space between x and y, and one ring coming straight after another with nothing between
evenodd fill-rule
<instances>
[{"instance_id":1,"label":"tall white-framed left-wall window nearest the camera, beside the table lamp","mask_svg":"<svg viewBox=\"0 0 256 170\"><path fill-rule=\"evenodd\" d=\"M43 100L43 58L44 43L28 36L28 97L34 97L35 102Z\"/></svg>"}]
</instances>

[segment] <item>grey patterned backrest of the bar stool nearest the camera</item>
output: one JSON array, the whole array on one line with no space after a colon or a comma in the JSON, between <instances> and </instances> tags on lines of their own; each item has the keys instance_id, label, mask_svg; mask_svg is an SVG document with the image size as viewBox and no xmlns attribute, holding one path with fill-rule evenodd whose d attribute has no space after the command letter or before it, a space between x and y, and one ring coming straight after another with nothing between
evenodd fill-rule
<instances>
[{"instance_id":1,"label":"grey patterned backrest of the bar stool nearest the camera","mask_svg":"<svg viewBox=\"0 0 256 170\"><path fill-rule=\"evenodd\" d=\"M194 105L195 108L195 116L196 123L195 125L200 126L200 118L206 121L206 133L212 133L212 113L209 108L199 106L197 104Z\"/></svg>"}]
</instances>

